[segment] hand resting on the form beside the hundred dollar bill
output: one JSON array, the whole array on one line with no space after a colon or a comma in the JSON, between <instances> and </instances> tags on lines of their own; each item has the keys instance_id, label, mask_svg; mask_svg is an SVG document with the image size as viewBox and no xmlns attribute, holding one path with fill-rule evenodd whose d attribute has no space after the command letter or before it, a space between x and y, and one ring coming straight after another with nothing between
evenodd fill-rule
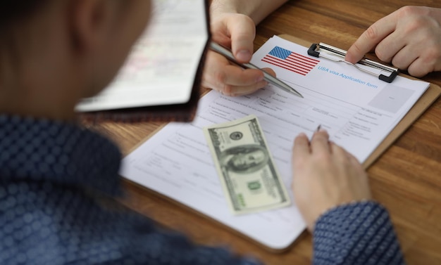
<instances>
[{"instance_id":1,"label":"hand resting on the form beside the hundred dollar bill","mask_svg":"<svg viewBox=\"0 0 441 265\"><path fill-rule=\"evenodd\" d=\"M292 190L309 231L319 216L339 205L371 200L368 177L356 158L317 131L299 134L292 155Z\"/></svg>"}]
</instances>

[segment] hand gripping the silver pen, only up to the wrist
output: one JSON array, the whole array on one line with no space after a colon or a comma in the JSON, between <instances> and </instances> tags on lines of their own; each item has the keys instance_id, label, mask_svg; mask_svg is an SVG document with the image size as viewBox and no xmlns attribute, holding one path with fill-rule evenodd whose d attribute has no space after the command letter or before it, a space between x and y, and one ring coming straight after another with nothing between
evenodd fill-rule
<instances>
[{"instance_id":1,"label":"hand gripping the silver pen, only up to the wrist","mask_svg":"<svg viewBox=\"0 0 441 265\"><path fill-rule=\"evenodd\" d=\"M251 60L255 27L251 18L238 13L213 15L211 21L213 41L230 48L240 63L248 63ZM271 69L264 70L270 75L275 75ZM202 86L227 96L242 96L253 93L267 84L261 70L244 70L214 51L207 54Z\"/></svg>"}]
</instances>

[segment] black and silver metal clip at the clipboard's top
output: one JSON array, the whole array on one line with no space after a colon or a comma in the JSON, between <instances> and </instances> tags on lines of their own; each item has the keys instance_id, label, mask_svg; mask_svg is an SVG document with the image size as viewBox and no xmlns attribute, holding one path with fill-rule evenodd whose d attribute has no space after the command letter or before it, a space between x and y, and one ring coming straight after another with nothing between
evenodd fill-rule
<instances>
[{"instance_id":1,"label":"black and silver metal clip at the clipboard's top","mask_svg":"<svg viewBox=\"0 0 441 265\"><path fill-rule=\"evenodd\" d=\"M378 77L378 79L383 80L387 83L392 83L392 81L394 81L395 77L397 77L398 75L398 68L391 67L389 65L383 65L381 63L377 63L366 58L359 60L358 64L366 65L368 67L375 68L376 70L380 70L380 73L372 72L368 70L367 67L360 67L359 65L349 63L348 61L344 60L344 56L346 56L346 51L335 48L328 44L312 44L311 47L309 47L308 54L317 58L322 57L328 60L333 60L335 62L347 63L356 67L358 70L367 72L370 75L374 75L375 77ZM389 72L390 74L387 76L383 75L381 72Z\"/></svg>"}]
</instances>

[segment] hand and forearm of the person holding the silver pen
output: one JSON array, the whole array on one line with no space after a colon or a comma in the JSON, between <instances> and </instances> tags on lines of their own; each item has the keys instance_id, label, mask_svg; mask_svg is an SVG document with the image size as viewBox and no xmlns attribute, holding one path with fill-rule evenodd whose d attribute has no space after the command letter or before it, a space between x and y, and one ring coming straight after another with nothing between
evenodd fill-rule
<instances>
[{"instance_id":1,"label":"hand and forearm of the person holding the silver pen","mask_svg":"<svg viewBox=\"0 0 441 265\"><path fill-rule=\"evenodd\" d=\"M254 52L256 24L279 8L287 0L211 0L210 19L212 41L232 51L239 63L249 63ZM275 72L262 69L269 75ZM243 69L237 64L209 51L206 58L202 86L228 96L241 96L268 84L261 70Z\"/></svg>"}]
</instances>

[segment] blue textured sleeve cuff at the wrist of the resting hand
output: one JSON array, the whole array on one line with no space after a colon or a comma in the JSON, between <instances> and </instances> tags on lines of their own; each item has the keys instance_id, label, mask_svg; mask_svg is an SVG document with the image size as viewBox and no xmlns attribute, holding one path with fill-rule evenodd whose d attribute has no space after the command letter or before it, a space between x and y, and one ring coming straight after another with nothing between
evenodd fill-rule
<instances>
[{"instance_id":1,"label":"blue textured sleeve cuff at the wrist of the resting hand","mask_svg":"<svg viewBox=\"0 0 441 265\"><path fill-rule=\"evenodd\" d=\"M356 202L323 214L313 231L313 264L405 264L387 210Z\"/></svg>"}]
</instances>

